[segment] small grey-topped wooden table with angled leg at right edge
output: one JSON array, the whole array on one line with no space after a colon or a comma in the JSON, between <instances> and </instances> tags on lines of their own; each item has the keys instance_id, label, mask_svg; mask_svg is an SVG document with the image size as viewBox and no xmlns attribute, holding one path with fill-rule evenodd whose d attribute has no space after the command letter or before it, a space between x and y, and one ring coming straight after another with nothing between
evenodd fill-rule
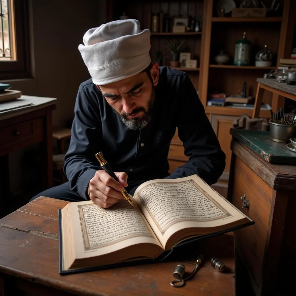
<instances>
[{"instance_id":1,"label":"small grey-topped wooden table with angled leg at right edge","mask_svg":"<svg viewBox=\"0 0 296 296\"><path fill-rule=\"evenodd\" d=\"M260 113L260 106L262 104L263 93L265 90L271 91L283 98L289 98L296 101L296 86L287 85L287 83L277 82L274 78L257 78L258 86L255 98L255 106L253 110L252 118L258 118ZM272 108L274 113L283 107L284 101L277 99L277 102L272 102Z\"/></svg>"}]
</instances>

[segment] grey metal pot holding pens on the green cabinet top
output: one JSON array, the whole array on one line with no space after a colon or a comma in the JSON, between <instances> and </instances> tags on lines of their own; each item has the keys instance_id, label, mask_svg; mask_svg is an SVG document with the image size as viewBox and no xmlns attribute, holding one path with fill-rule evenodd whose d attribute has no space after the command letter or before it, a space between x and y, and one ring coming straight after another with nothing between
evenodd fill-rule
<instances>
[{"instance_id":1,"label":"grey metal pot holding pens on the green cabinet top","mask_svg":"<svg viewBox=\"0 0 296 296\"><path fill-rule=\"evenodd\" d=\"M280 124L280 120L269 120L271 140L279 143L288 143L295 134L295 126Z\"/></svg>"}]
</instances>

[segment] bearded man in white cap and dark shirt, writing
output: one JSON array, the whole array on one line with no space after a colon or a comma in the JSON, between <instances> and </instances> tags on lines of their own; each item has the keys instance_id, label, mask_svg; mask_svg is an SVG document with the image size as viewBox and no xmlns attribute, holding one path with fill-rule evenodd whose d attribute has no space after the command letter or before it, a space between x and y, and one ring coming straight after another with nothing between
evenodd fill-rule
<instances>
[{"instance_id":1,"label":"bearded man in white cap and dark shirt, writing","mask_svg":"<svg viewBox=\"0 0 296 296\"><path fill-rule=\"evenodd\" d=\"M225 154L186 73L151 63L150 31L137 20L119 20L86 32L79 45L91 79L75 103L64 171L69 182L44 195L70 201L91 199L110 207L147 180L197 174L214 184ZM178 128L189 160L168 173L170 141ZM102 151L119 182L99 165ZM34 198L36 198L34 197Z\"/></svg>"}]
</instances>

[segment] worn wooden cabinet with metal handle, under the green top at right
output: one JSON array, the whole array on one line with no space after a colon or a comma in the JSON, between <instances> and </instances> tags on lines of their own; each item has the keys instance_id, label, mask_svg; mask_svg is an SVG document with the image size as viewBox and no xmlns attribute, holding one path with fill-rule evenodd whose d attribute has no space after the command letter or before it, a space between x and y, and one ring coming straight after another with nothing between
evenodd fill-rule
<instances>
[{"instance_id":1,"label":"worn wooden cabinet with metal handle, under the green top at right","mask_svg":"<svg viewBox=\"0 0 296 296\"><path fill-rule=\"evenodd\" d=\"M250 279L258 296L295 295L296 167L270 164L236 139L231 151L228 199L255 221L234 232L236 254L248 274L241 282Z\"/></svg>"}]
</instances>

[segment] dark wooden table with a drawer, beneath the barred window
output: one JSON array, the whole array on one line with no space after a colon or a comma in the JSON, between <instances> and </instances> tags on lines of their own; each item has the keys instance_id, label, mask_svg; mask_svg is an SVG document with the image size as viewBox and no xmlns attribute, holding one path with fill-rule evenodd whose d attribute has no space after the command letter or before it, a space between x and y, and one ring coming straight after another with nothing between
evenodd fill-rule
<instances>
[{"instance_id":1,"label":"dark wooden table with a drawer, beneath the barred window","mask_svg":"<svg viewBox=\"0 0 296 296\"><path fill-rule=\"evenodd\" d=\"M52 110L56 99L34 96L20 99L33 104L0 112L0 217L8 213L10 152L40 143L42 188L52 187Z\"/></svg>"}]
</instances>

